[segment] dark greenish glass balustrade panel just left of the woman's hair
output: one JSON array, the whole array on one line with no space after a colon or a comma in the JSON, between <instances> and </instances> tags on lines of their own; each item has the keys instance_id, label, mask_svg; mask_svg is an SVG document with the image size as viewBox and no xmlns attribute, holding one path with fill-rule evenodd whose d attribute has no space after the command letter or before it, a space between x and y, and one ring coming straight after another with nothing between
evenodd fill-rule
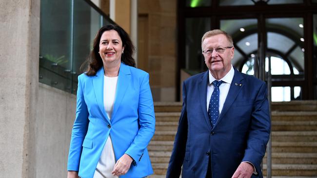
<instances>
[{"instance_id":1,"label":"dark greenish glass balustrade panel just left of the woman's hair","mask_svg":"<svg viewBox=\"0 0 317 178\"><path fill-rule=\"evenodd\" d=\"M88 57L92 49L93 39L101 26L101 18L99 13L88 6L84 0L75 0L74 8L74 62L72 74L74 80L77 80L77 76L82 73L80 66ZM76 91L77 85L73 86L73 92Z\"/></svg>"}]
</instances>

